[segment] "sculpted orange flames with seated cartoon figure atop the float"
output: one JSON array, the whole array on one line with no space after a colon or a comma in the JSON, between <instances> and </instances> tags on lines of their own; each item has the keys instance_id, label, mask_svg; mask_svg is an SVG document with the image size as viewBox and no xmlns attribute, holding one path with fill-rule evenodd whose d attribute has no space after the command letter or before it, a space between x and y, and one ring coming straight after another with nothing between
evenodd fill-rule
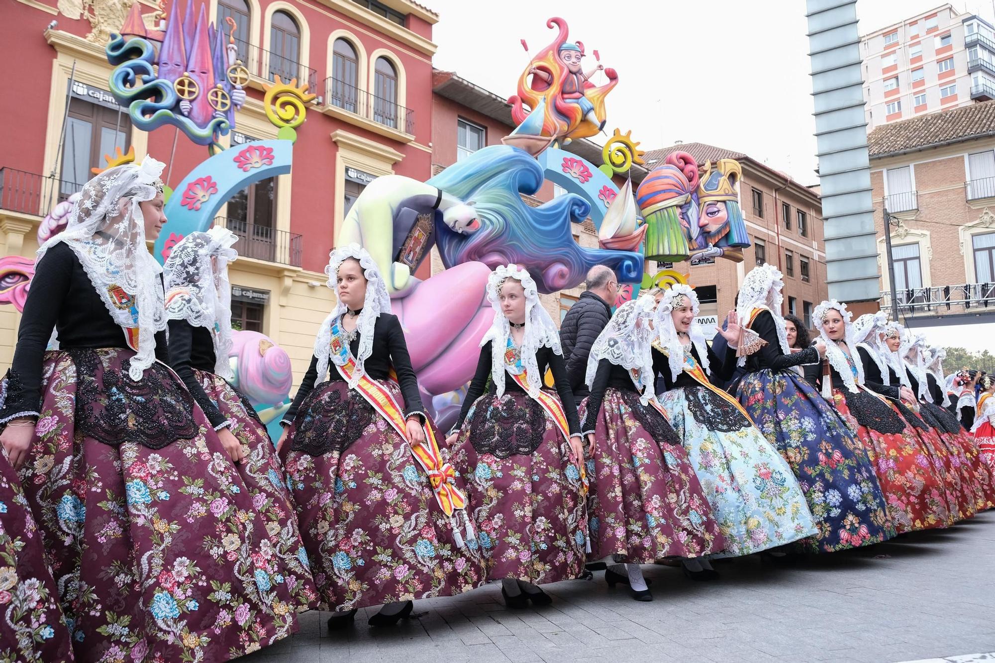
<instances>
[{"instance_id":1,"label":"sculpted orange flames with seated cartoon figure atop the float","mask_svg":"<svg viewBox=\"0 0 995 663\"><path fill-rule=\"evenodd\" d=\"M595 135L605 125L605 97L618 84L618 75L600 63L583 70L584 45L567 41L566 21L553 17L546 27L558 28L559 34L518 78L518 94L507 101L511 116L520 124L530 111L541 109L542 134L564 143ZM604 71L608 82L595 87L590 79L599 71Z\"/></svg>"}]
</instances>

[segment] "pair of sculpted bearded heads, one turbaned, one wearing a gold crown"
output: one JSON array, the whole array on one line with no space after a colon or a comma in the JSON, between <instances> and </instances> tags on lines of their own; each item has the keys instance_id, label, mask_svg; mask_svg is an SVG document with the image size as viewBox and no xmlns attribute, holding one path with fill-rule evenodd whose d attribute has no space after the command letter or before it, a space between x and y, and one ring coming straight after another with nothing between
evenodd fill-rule
<instances>
[{"instance_id":1,"label":"pair of sculpted bearded heads, one turbaned, one wearing a gold crown","mask_svg":"<svg viewBox=\"0 0 995 663\"><path fill-rule=\"evenodd\" d=\"M668 155L636 190L648 229L649 260L693 265L724 257L741 262L749 246L739 207L742 169L733 159L706 162L700 168L687 152Z\"/></svg>"}]
</instances>

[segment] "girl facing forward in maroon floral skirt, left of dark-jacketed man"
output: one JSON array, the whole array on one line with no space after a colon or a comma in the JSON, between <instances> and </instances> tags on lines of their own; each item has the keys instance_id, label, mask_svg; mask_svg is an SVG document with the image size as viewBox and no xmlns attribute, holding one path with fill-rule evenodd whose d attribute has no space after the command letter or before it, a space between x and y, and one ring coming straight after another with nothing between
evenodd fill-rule
<instances>
[{"instance_id":1,"label":"girl facing forward in maroon floral skirt, left of dark-jacketed man","mask_svg":"<svg viewBox=\"0 0 995 663\"><path fill-rule=\"evenodd\" d=\"M584 572L587 516L577 408L559 334L514 265L488 280L494 323L447 439L467 479L489 579L509 607L550 602L536 585ZM542 388L546 368L556 393Z\"/></svg>"}]
</instances>

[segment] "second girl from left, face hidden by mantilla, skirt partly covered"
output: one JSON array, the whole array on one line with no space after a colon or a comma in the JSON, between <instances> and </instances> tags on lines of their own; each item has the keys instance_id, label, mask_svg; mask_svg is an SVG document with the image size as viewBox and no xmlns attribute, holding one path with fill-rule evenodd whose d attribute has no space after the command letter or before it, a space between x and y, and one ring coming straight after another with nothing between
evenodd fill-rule
<instances>
[{"instance_id":1,"label":"second girl from left, face hidden by mantilla, skirt partly covered","mask_svg":"<svg viewBox=\"0 0 995 663\"><path fill-rule=\"evenodd\" d=\"M266 523L270 545L284 564L284 582L296 608L307 610L316 606L317 592L283 468L256 409L227 381L235 376L228 361L232 348L228 264L238 257L232 248L236 241L235 233L215 227L190 233L169 254L164 266L169 362L238 468L253 507Z\"/></svg>"}]
</instances>

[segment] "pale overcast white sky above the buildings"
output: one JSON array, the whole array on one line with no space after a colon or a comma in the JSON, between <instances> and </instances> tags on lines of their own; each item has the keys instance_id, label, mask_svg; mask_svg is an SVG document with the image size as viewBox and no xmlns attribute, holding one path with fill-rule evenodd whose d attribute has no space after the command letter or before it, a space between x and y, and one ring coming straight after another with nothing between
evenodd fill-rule
<instances>
[{"instance_id":1,"label":"pale overcast white sky above the buildings","mask_svg":"<svg viewBox=\"0 0 995 663\"><path fill-rule=\"evenodd\" d=\"M596 64L595 49L618 71L619 85L606 99L609 134L632 129L643 149L706 142L741 150L803 184L817 181L804 0L421 1L441 15L435 66L499 97L515 93L528 65L518 40L535 54L555 36L546 19L560 16L570 39L584 43L585 71ZM991 21L993 2L951 4ZM874 32L942 4L858 0L859 30ZM604 80L599 74L594 83ZM995 337L995 325L926 331L969 350L991 347Z\"/></svg>"}]
</instances>

